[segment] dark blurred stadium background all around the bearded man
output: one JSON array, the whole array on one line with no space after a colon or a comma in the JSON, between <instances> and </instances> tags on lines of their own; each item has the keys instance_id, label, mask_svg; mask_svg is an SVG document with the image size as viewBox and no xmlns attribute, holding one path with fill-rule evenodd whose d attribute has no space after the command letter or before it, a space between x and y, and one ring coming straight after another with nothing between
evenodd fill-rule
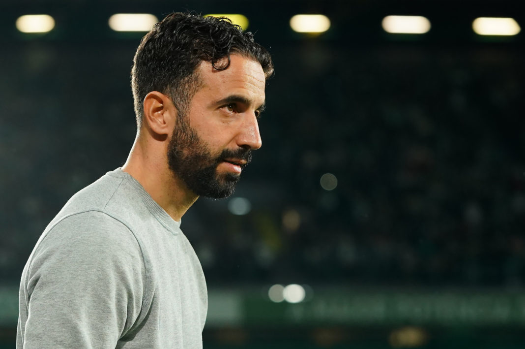
<instances>
[{"instance_id":1,"label":"dark blurred stadium background all around the bearded man","mask_svg":"<svg viewBox=\"0 0 525 349\"><path fill-rule=\"evenodd\" d=\"M110 17L186 10L244 15L276 66L234 196L182 221L205 348L525 347L518 3L2 0L0 347L39 235L133 143L142 19Z\"/></svg>"}]
</instances>

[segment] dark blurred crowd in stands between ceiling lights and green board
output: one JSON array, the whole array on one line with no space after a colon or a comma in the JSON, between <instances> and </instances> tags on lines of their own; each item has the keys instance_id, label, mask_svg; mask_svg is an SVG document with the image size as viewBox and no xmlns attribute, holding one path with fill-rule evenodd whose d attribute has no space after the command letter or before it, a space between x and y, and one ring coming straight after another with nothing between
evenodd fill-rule
<instances>
[{"instance_id":1,"label":"dark blurred crowd in stands between ceiling lights and green board","mask_svg":"<svg viewBox=\"0 0 525 349\"><path fill-rule=\"evenodd\" d=\"M125 161L136 46L0 56L0 280L17 283L67 199ZM182 220L209 286L523 286L523 50L310 40L270 52L263 146L234 194L246 214L199 199Z\"/></svg>"}]
</instances>

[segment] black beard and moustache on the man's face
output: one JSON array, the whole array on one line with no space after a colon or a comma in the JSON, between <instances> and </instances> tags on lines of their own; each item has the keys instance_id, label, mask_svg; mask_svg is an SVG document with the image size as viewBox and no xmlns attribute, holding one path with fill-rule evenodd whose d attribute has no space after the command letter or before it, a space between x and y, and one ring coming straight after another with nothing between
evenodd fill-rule
<instances>
[{"instance_id":1,"label":"black beard and moustache on the man's face","mask_svg":"<svg viewBox=\"0 0 525 349\"><path fill-rule=\"evenodd\" d=\"M187 125L185 117L177 118L167 149L167 162L175 176L198 196L223 199L232 195L240 179L236 173L217 174L217 166L227 158L244 159L244 169L251 161L251 151L245 148L224 149L214 156L197 132Z\"/></svg>"}]
</instances>

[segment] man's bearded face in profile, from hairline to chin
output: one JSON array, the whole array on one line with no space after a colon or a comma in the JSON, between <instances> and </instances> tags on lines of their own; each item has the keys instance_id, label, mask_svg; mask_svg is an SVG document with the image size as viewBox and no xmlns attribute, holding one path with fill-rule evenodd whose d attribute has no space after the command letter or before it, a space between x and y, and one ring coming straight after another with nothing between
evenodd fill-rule
<instances>
[{"instance_id":1,"label":"man's bearded face in profile, from hairline to chin","mask_svg":"<svg viewBox=\"0 0 525 349\"><path fill-rule=\"evenodd\" d=\"M167 149L175 176L198 196L226 198L261 147L257 116L264 108L265 75L254 60L230 56L217 71L208 62L197 68L203 86L187 115L179 114Z\"/></svg>"}]
</instances>

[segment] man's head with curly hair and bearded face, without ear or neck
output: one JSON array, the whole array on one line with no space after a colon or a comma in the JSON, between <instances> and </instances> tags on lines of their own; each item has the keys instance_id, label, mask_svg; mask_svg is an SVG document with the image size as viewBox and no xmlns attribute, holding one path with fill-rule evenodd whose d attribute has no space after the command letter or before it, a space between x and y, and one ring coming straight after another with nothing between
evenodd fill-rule
<instances>
[{"instance_id":1,"label":"man's head with curly hair and bearded face, without ear or neck","mask_svg":"<svg viewBox=\"0 0 525 349\"><path fill-rule=\"evenodd\" d=\"M272 73L270 55L251 33L222 19L171 14L144 37L134 58L139 128L152 110L151 91L167 96L176 110L167 165L195 194L227 197L250 149L260 147L256 117Z\"/></svg>"}]
</instances>

